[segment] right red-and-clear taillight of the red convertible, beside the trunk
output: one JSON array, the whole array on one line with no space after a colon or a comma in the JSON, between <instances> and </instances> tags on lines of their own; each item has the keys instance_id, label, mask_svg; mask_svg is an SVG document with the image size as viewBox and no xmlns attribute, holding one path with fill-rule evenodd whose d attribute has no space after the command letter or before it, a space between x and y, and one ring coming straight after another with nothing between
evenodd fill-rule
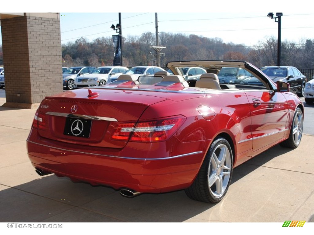
<instances>
[{"instance_id":1,"label":"right red-and-clear taillight of the red convertible, beside the trunk","mask_svg":"<svg viewBox=\"0 0 314 235\"><path fill-rule=\"evenodd\" d=\"M176 116L146 122L118 124L111 135L114 140L135 142L156 142L171 137L186 118Z\"/></svg>"}]
</instances>

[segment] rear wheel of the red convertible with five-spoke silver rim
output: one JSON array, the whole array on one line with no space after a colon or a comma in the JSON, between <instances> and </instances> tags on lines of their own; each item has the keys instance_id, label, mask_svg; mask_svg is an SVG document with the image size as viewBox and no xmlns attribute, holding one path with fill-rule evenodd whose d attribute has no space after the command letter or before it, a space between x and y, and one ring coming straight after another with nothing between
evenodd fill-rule
<instances>
[{"instance_id":1,"label":"rear wheel of the red convertible with five-spoke silver rim","mask_svg":"<svg viewBox=\"0 0 314 235\"><path fill-rule=\"evenodd\" d=\"M196 179L185 193L196 201L217 203L228 191L232 170L230 144L225 138L217 137L210 145Z\"/></svg>"}]
</instances>

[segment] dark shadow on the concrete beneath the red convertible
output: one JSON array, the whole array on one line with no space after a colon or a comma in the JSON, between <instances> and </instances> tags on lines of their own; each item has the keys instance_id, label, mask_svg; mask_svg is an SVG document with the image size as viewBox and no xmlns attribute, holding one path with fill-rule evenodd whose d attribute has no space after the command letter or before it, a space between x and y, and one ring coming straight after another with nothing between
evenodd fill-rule
<instances>
[{"instance_id":1,"label":"dark shadow on the concrete beneath the red convertible","mask_svg":"<svg viewBox=\"0 0 314 235\"><path fill-rule=\"evenodd\" d=\"M234 169L232 183L288 151L275 146L247 161ZM183 190L126 198L55 175L3 189L0 198L0 222L183 222L217 205L193 201Z\"/></svg>"}]
</instances>

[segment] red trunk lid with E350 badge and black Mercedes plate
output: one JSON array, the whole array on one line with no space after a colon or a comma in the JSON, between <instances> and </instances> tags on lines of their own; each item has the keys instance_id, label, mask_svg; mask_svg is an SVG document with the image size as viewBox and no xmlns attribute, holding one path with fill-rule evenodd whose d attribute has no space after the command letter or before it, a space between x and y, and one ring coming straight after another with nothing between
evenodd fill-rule
<instances>
[{"instance_id":1,"label":"red trunk lid with E350 badge and black Mercedes plate","mask_svg":"<svg viewBox=\"0 0 314 235\"><path fill-rule=\"evenodd\" d=\"M166 100L145 92L92 91L97 93L91 97L88 97L88 89L46 97L38 108L46 125L44 129L38 129L39 135L72 144L123 148L127 141L111 139L116 124L137 122L148 106Z\"/></svg>"}]
</instances>

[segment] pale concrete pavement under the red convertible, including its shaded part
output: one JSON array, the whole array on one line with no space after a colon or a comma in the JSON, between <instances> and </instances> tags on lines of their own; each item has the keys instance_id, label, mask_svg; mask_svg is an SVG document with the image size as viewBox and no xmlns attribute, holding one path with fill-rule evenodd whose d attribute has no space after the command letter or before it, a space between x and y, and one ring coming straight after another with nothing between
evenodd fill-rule
<instances>
[{"instance_id":1,"label":"pale concrete pavement under the red convertible, including its shaded part","mask_svg":"<svg viewBox=\"0 0 314 235\"><path fill-rule=\"evenodd\" d=\"M3 92L0 222L314 222L311 134L297 149L275 146L235 168L218 204L192 201L184 191L125 198L104 186L37 175L26 153L35 109L1 107Z\"/></svg>"}]
</instances>

